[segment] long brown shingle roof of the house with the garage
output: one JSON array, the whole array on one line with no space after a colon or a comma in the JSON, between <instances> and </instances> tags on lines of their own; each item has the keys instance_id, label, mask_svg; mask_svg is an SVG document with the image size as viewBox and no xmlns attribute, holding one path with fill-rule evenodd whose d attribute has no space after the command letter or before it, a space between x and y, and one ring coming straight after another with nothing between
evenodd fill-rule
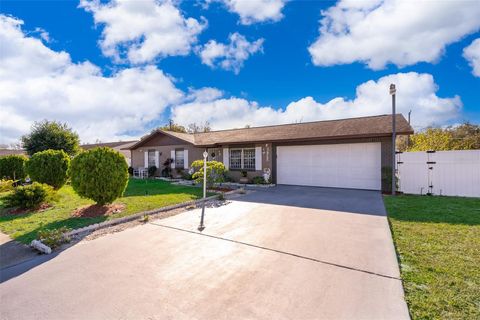
<instances>
[{"instance_id":1,"label":"long brown shingle roof of the house with the garage","mask_svg":"<svg viewBox=\"0 0 480 320\"><path fill-rule=\"evenodd\" d=\"M396 115L396 133L412 134L413 129L403 115ZM157 130L133 144L130 149L140 147L158 133L163 133L191 143L195 146L220 144L242 144L254 142L306 141L339 138L382 137L392 134L392 116L380 115L341 120L304 122L265 127L219 130L205 133L177 133Z\"/></svg>"}]
</instances>

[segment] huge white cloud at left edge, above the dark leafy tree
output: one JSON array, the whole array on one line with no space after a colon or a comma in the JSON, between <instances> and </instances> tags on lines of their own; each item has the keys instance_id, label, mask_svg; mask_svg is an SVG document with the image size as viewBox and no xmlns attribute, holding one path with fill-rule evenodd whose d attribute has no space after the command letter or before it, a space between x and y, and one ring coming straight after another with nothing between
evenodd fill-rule
<instances>
[{"instance_id":1,"label":"huge white cloud at left edge, above the dark leafy tree","mask_svg":"<svg viewBox=\"0 0 480 320\"><path fill-rule=\"evenodd\" d=\"M67 122L86 142L126 139L146 131L183 98L154 66L128 68L107 77L90 62L73 63L21 30L23 22L0 15L0 143L27 133L33 121Z\"/></svg>"}]
</instances>

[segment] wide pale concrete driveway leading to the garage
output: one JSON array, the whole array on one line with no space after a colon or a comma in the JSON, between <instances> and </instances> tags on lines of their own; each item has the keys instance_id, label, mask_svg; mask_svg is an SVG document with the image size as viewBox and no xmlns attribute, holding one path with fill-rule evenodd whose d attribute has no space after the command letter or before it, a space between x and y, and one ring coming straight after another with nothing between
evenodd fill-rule
<instances>
[{"instance_id":1,"label":"wide pale concrete driveway leading to the garage","mask_svg":"<svg viewBox=\"0 0 480 320\"><path fill-rule=\"evenodd\" d=\"M0 318L409 317L378 192L256 191L207 209L203 234L199 214L80 242L3 282Z\"/></svg>"}]
</instances>

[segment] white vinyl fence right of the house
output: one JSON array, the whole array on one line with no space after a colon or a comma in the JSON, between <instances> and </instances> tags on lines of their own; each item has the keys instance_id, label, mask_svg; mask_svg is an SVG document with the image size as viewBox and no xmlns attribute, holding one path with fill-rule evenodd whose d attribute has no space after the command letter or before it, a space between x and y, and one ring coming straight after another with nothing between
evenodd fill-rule
<instances>
[{"instance_id":1,"label":"white vinyl fence right of the house","mask_svg":"<svg viewBox=\"0 0 480 320\"><path fill-rule=\"evenodd\" d=\"M480 197L480 150L397 154L399 191Z\"/></svg>"}]
</instances>

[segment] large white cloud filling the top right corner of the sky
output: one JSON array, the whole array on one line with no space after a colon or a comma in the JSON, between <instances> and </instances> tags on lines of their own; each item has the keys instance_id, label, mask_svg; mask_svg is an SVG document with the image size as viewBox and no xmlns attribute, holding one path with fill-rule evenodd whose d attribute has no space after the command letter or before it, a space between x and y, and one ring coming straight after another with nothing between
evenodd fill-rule
<instances>
[{"instance_id":1,"label":"large white cloud filling the top right corner of the sky","mask_svg":"<svg viewBox=\"0 0 480 320\"><path fill-rule=\"evenodd\" d=\"M436 62L448 44L480 29L478 1L341 0L322 15L308 48L318 66Z\"/></svg>"}]
</instances>

